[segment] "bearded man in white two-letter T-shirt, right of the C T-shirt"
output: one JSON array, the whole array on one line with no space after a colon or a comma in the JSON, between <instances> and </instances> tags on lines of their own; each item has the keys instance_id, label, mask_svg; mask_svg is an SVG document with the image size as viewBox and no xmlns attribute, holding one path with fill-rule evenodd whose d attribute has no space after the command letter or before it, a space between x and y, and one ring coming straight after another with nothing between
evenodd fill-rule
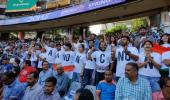
<instances>
[{"instance_id":1,"label":"bearded man in white two-letter T-shirt, right of the C T-shirt","mask_svg":"<svg viewBox=\"0 0 170 100\"><path fill-rule=\"evenodd\" d=\"M129 62L135 62L138 60L138 50L135 47L129 45L130 38L128 36L121 37L121 46L116 48L113 52L113 57L117 59L116 66L116 80L125 76L125 66Z\"/></svg>"}]
</instances>

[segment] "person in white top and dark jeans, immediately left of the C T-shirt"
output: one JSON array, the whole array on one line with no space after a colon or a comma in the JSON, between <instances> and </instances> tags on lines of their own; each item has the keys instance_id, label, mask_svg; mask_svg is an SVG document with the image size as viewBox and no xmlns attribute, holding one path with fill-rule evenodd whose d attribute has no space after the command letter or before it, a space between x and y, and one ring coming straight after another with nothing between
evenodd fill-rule
<instances>
[{"instance_id":1,"label":"person in white top and dark jeans, immediately left of the C T-shirt","mask_svg":"<svg viewBox=\"0 0 170 100\"><path fill-rule=\"evenodd\" d=\"M91 58L91 54L95 52L95 48L94 48L94 41L89 41L89 50L87 51L86 54L86 65L85 68L83 68L83 86L86 85L93 85L93 81L94 78L92 77L92 74L94 72L95 69L95 61Z\"/></svg>"}]
</instances>

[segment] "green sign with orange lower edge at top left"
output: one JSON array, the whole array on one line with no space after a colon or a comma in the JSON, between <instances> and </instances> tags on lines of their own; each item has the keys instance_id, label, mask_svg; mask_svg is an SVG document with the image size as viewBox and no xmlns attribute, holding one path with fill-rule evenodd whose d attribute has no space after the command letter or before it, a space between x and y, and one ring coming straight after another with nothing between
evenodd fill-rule
<instances>
[{"instance_id":1,"label":"green sign with orange lower edge at top left","mask_svg":"<svg viewBox=\"0 0 170 100\"><path fill-rule=\"evenodd\" d=\"M20 12L36 10L37 0L8 0L6 12Z\"/></svg>"}]
</instances>

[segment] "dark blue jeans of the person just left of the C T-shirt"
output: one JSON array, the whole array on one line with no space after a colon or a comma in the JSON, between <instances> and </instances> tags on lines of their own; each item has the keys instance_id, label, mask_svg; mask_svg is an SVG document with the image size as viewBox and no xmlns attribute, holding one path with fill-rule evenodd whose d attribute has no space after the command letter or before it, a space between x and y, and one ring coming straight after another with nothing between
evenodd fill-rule
<instances>
[{"instance_id":1,"label":"dark blue jeans of the person just left of the C T-shirt","mask_svg":"<svg viewBox=\"0 0 170 100\"><path fill-rule=\"evenodd\" d=\"M92 79L93 71L93 69L84 69L83 87L94 84L94 80Z\"/></svg>"}]
</instances>

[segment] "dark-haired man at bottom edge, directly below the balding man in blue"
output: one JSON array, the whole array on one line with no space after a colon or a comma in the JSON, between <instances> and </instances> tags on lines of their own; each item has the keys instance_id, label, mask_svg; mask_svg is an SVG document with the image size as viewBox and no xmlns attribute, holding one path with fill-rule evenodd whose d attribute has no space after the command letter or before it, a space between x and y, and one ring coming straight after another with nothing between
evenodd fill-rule
<instances>
[{"instance_id":1,"label":"dark-haired man at bottom edge, directly below the balding man in blue","mask_svg":"<svg viewBox=\"0 0 170 100\"><path fill-rule=\"evenodd\" d=\"M60 95L56 89L57 79L49 77L45 80L44 90L41 91L36 100L61 100Z\"/></svg>"}]
</instances>

